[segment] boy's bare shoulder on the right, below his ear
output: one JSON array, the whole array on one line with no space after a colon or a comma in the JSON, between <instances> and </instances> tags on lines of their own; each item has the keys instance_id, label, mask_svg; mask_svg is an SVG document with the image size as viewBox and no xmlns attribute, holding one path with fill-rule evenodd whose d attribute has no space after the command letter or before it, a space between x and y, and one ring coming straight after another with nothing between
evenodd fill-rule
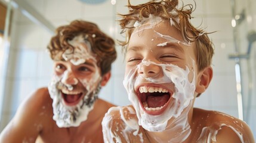
<instances>
[{"instance_id":1,"label":"boy's bare shoulder on the right, below his ear","mask_svg":"<svg viewBox=\"0 0 256 143\"><path fill-rule=\"evenodd\" d=\"M211 138L212 142L254 142L249 126L228 114L194 108L195 122L196 126L202 126L201 139Z\"/></svg>"}]
</instances>

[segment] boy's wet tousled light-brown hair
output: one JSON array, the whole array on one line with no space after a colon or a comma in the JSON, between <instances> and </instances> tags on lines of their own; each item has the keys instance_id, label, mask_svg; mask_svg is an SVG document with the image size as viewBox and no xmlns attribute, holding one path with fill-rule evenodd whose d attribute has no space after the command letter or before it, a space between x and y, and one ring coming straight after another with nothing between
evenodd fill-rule
<instances>
[{"instance_id":1,"label":"boy's wet tousled light-brown hair","mask_svg":"<svg viewBox=\"0 0 256 143\"><path fill-rule=\"evenodd\" d=\"M121 20L119 24L122 29L122 33L125 33L125 41L119 41L123 46L123 51L126 52L129 39L134 31L134 23L138 21L143 22L145 18L149 18L150 15L155 17L161 17L162 20L171 20L172 24L181 33L184 42L196 42L195 54L196 62L198 63L198 70L201 71L205 67L211 65L212 55L214 54L214 48L212 42L208 38L208 33L202 29L196 29L190 23L190 19L193 9L193 5L182 5L178 9L178 0L151 0L145 4L131 5L128 0L128 14L119 14ZM143 23L141 23L143 24ZM190 36L192 33L192 36Z\"/></svg>"}]
</instances>

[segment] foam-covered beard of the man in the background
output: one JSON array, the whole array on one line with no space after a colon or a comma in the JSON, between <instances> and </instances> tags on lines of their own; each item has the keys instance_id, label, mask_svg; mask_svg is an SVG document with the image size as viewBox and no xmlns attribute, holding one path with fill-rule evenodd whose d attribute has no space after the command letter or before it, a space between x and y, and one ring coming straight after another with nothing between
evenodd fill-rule
<instances>
[{"instance_id":1,"label":"foam-covered beard of the man in the background","mask_svg":"<svg viewBox=\"0 0 256 143\"><path fill-rule=\"evenodd\" d=\"M94 91L86 93L84 98L79 101L75 106L69 107L63 104L63 98L59 87L69 88L60 82L60 79L53 77L50 84L48 85L48 91L50 97L53 99L53 119L55 120L59 128L68 128L79 126L82 122L87 120L88 114L94 107L95 100L98 98L98 92L101 89L100 83L94 89Z\"/></svg>"}]
</instances>

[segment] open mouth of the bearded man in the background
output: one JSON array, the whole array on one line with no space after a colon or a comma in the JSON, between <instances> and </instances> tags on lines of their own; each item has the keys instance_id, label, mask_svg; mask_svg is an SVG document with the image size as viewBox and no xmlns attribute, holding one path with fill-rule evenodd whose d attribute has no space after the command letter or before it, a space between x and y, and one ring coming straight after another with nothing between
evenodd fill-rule
<instances>
[{"instance_id":1,"label":"open mouth of the bearded man in the background","mask_svg":"<svg viewBox=\"0 0 256 143\"><path fill-rule=\"evenodd\" d=\"M66 92L62 91L61 95L66 105L76 105L82 98L82 92Z\"/></svg>"}]
</instances>

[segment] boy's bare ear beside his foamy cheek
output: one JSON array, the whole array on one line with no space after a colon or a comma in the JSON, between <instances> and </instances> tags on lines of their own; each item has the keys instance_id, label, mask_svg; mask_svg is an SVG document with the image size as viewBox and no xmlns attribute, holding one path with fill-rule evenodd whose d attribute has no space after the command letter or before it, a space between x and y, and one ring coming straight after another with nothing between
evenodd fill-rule
<instances>
[{"instance_id":1,"label":"boy's bare ear beside his foamy cheek","mask_svg":"<svg viewBox=\"0 0 256 143\"><path fill-rule=\"evenodd\" d=\"M208 66L198 74L198 81L196 82L196 92L202 94L208 88L212 80L212 67Z\"/></svg>"}]
</instances>

